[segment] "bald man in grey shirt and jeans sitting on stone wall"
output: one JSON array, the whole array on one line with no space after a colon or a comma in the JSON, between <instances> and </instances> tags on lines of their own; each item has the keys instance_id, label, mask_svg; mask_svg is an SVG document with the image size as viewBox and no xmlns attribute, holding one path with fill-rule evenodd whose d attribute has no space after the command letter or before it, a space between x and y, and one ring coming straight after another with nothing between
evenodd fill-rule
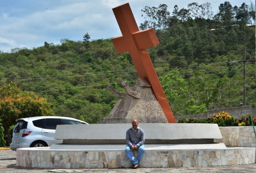
<instances>
[{"instance_id":1,"label":"bald man in grey shirt and jeans sitting on stone wall","mask_svg":"<svg viewBox=\"0 0 256 173\"><path fill-rule=\"evenodd\" d=\"M129 128L126 131L126 147L125 147L125 152L128 157L128 159L131 161L133 164L133 169L137 169L138 165L140 164L145 147L144 147L144 141L145 141L145 135L144 131L142 128L138 127L138 120L134 119L132 120L132 127ZM133 150L138 150L138 156L137 159L133 156L132 151Z\"/></svg>"}]
</instances>

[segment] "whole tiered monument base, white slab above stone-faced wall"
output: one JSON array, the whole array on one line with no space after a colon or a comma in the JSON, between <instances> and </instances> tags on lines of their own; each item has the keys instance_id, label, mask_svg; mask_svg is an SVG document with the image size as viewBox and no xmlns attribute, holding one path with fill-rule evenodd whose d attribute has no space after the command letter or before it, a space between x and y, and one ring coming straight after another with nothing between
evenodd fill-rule
<instances>
[{"instance_id":1,"label":"whole tiered monument base, white slab above stone-faced wall","mask_svg":"<svg viewBox=\"0 0 256 173\"><path fill-rule=\"evenodd\" d=\"M145 154L140 167L207 167L255 163L255 147L226 147L216 124L139 124ZM131 124L58 125L52 147L17 149L16 165L36 168L131 167L125 131ZM136 152L135 152L136 156Z\"/></svg>"}]
</instances>

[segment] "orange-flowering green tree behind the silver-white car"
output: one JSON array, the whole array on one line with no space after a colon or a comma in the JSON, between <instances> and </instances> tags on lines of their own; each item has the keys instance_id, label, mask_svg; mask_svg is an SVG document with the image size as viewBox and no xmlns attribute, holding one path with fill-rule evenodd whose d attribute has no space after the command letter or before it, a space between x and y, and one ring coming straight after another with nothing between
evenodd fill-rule
<instances>
[{"instance_id":1,"label":"orange-flowering green tree behind the silver-white car","mask_svg":"<svg viewBox=\"0 0 256 173\"><path fill-rule=\"evenodd\" d=\"M0 119L5 139L10 140L8 131L11 125L16 124L16 119L46 115L54 115L46 99L20 90L14 82L0 88Z\"/></svg>"}]
</instances>

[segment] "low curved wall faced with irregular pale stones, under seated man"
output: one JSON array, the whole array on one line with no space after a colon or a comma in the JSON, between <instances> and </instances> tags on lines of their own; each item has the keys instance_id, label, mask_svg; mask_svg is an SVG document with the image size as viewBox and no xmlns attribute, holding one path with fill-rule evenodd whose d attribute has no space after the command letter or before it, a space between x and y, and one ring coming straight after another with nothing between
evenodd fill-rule
<instances>
[{"instance_id":1,"label":"low curved wall faced with irregular pale stones, under seated man","mask_svg":"<svg viewBox=\"0 0 256 173\"><path fill-rule=\"evenodd\" d=\"M131 167L125 150L64 151L17 149L16 165L36 168ZM207 167L255 163L255 148L145 150L140 167Z\"/></svg>"}]
</instances>

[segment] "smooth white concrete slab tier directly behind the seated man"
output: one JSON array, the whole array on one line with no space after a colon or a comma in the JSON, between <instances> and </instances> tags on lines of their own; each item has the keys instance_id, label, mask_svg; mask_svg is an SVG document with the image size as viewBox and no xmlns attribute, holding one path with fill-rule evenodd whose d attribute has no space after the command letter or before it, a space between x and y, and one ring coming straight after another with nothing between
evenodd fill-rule
<instances>
[{"instance_id":1,"label":"smooth white concrete slab tier directly behind the seated man","mask_svg":"<svg viewBox=\"0 0 256 173\"><path fill-rule=\"evenodd\" d=\"M64 144L125 144L131 124L57 125L55 139ZM145 144L212 143L221 139L217 124L139 124Z\"/></svg>"}]
</instances>

